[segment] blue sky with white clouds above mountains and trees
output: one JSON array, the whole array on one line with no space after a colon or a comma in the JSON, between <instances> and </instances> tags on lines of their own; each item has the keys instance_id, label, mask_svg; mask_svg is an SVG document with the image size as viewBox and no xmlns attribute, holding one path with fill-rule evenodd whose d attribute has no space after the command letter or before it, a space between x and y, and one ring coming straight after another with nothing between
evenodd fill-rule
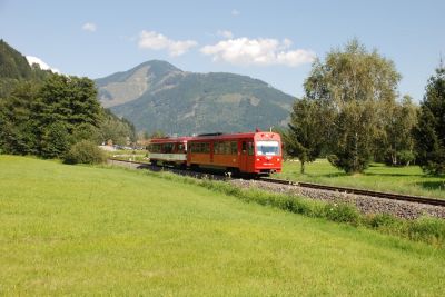
<instances>
[{"instance_id":1,"label":"blue sky with white clouds above mountains and trees","mask_svg":"<svg viewBox=\"0 0 445 297\"><path fill-rule=\"evenodd\" d=\"M445 1L0 0L0 38L63 73L105 77L161 59L235 72L300 97L314 57L358 38L416 101L445 56Z\"/></svg>"}]
</instances>

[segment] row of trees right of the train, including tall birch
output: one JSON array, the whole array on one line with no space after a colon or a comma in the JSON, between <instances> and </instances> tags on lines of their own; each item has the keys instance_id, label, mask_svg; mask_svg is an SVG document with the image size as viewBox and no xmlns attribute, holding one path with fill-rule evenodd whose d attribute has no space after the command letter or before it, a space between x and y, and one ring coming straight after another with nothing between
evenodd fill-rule
<instances>
[{"instance_id":1,"label":"row of trees right of the train, including tall birch","mask_svg":"<svg viewBox=\"0 0 445 297\"><path fill-rule=\"evenodd\" d=\"M445 174L445 68L441 62L429 78L419 107L409 96L398 97L399 80L393 61L357 40L317 59L281 131L301 172L325 156L348 174L373 160Z\"/></svg>"}]
</instances>

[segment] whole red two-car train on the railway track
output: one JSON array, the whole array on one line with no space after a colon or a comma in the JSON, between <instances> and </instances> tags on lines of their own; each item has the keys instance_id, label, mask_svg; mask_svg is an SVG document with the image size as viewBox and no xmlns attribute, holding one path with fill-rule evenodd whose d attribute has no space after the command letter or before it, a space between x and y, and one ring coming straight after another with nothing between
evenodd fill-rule
<instances>
[{"instance_id":1,"label":"whole red two-car train on the railway track","mask_svg":"<svg viewBox=\"0 0 445 297\"><path fill-rule=\"evenodd\" d=\"M274 132L210 133L151 139L151 164L248 175L281 171L281 139Z\"/></svg>"}]
</instances>

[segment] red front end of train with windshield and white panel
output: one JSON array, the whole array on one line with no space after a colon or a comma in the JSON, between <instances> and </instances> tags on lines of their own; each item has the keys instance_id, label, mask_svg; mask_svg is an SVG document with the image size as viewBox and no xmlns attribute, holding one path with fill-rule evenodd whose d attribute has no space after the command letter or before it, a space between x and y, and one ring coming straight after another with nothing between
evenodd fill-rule
<instances>
[{"instance_id":1,"label":"red front end of train with windshield and white panel","mask_svg":"<svg viewBox=\"0 0 445 297\"><path fill-rule=\"evenodd\" d=\"M281 138L278 133L256 132L254 136L254 146L256 174L269 175L281 172Z\"/></svg>"}]
</instances>

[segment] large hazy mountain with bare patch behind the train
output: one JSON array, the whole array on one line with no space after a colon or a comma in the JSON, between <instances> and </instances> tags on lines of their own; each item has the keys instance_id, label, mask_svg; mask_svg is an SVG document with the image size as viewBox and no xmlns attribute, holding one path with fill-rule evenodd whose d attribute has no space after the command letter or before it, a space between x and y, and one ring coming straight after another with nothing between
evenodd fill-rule
<instances>
[{"instance_id":1,"label":"large hazy mountain with bare patch behind the train","mask_svg":"<svg viewBox=\"0 0 445 297\"><path fill-rule=\"evenodd\" d=\"M159 60L96 80L103 107L137 130L190 135L284 126L295 100L233 73L194 73Z\"/></svg>"}]
</instances>

